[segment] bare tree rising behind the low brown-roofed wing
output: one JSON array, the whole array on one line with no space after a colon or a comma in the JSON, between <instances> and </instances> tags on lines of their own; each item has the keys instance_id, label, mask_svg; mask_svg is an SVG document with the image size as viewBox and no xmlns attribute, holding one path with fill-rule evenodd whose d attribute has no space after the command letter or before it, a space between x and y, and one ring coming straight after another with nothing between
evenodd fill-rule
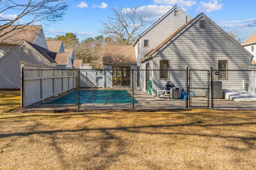
<instances>
[{"instance_id":1,"label":"bare tree rising behind the low brown-roofed wing","mask_svg":"<svg viewBox=\"0 0 256 170\"><path fill-rule=\"evenodd\" d=\"M112 14L107 21L101 21L102 35L112 38L116 44L131 44L136 39L141 28L147 27L152 22L152 12L144 8L119 6L112 8Z\"/></svg>"}]
</instances>

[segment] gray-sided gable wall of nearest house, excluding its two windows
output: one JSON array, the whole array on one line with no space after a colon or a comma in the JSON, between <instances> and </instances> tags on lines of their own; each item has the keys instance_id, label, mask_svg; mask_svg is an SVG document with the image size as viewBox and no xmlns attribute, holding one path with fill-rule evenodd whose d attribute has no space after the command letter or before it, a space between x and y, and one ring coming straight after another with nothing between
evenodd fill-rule
<instances>
[{"instance_id":1,"label":"gray-sided gable wall of nearest house, excluding its two windows","mask_svg":"<svg viewBox=\"0 0 256 170\"><path fill-rule=\"evenodd\" d=\"M218 69L218 60L227 60L228 69L248 69L250 63L248 54L207 20L206 29L199 28L198 20L150 60L153 61L155 69L160 69L161 60L170 60L170 70L186 70L186 67L200 70L210 70L210 67L212 67L216 70ZM143 63L146 62L148 61L143 61ZM154 90L162 90L166 80L160 79L158 72L153 74ZM186 88L180 83L181 80L185 80L185 74L179 75L178 80L175 80L174 77L176 76L172 75L171 72L170 81L175 86ZM201 81L200 78L198 77L198 81ZM230 78L230 75L228 75L228 78ZM244 80L248 81L246 78ZM232 89L232 86L226 85L224 81L228 80L222 80L222 88ZM243 80L236 81L234 84Z\"/></svg>"}]
</instances>

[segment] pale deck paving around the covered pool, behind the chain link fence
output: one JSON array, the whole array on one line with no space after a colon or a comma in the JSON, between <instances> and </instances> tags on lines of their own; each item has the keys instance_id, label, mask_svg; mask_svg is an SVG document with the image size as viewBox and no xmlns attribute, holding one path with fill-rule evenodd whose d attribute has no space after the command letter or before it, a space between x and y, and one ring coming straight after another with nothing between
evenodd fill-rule
<instances>
[{"instance_id":1,"label":"pale deck paving around the covered pool, behind the chain link fence","mask_svg":"<svg viewBox=\"0 0 256 170\"><path fill-rule=\"evenodd\" d=\"M101 88L102 90L102 88ZM105 89L104 89L105 90ZM106 89L108 90L108 89ZM132 96L132 88L118 87L110 88L110 90L127 90ZM28 109L78 109L78 104L49 104L48 102L56 100L66 94L71 93L66 92L64 94L49 98L37 104L34 104ZM148 93L134 89L134 99L138 103L134 104L80 104L79 109L186 109L186 100L177 99L164 99L156 98L155 96L150 96ZM211 100L208 104L207 98L192 98L190 101L190 108L211 108ZM256 109L255 101L245 101L236 102L232 100L225 99L214 99L213 102L214 109Z\"/></svg>"}]
</instances>

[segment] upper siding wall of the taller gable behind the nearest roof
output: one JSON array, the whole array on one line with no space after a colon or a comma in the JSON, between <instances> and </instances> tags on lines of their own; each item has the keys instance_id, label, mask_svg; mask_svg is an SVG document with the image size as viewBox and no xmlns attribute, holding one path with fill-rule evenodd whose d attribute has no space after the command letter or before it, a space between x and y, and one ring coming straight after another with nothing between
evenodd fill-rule
<instances>
[{"instance_id":1,"label":"upper siding wall of the taller gable behind the nearest roof","mask_svg":"<svg viewBox=\"0 0 256 170\"><path fill-rule=\"evenodd\" d=\"M140 57L144 57L148 51L157 47L167 37L169 37L174 31L182 27L190 18L186 16L182 11L179 10L179 15L174 16L174 9L168 16L166 16L161 22L156 24L147 33L145 33L140 40L141 52ZM149 40L149 47L144 47L144 39Z\"/></svg>"}]
</instances>

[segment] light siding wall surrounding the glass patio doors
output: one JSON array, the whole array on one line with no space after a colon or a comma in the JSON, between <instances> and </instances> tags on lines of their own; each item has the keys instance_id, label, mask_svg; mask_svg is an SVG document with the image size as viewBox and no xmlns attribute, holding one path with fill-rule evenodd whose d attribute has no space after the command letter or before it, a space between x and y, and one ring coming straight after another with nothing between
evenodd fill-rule
<instances>
[{"instance_id":1,"label":"light siding wall surrounding the glass patio doors","mask_svg":"<svg viewBox=\"0 0 256 170\"><path fill-rule=\"evenodd\" d=\"M104 87L112 88L113 87L113 66L130 66L130 70L137 70L136 64L104 64ZM132 87L132 72L130 73L130 86ZM133 85L137 87L137 71L133 72Z\"/></svg>"}]
</instances>

